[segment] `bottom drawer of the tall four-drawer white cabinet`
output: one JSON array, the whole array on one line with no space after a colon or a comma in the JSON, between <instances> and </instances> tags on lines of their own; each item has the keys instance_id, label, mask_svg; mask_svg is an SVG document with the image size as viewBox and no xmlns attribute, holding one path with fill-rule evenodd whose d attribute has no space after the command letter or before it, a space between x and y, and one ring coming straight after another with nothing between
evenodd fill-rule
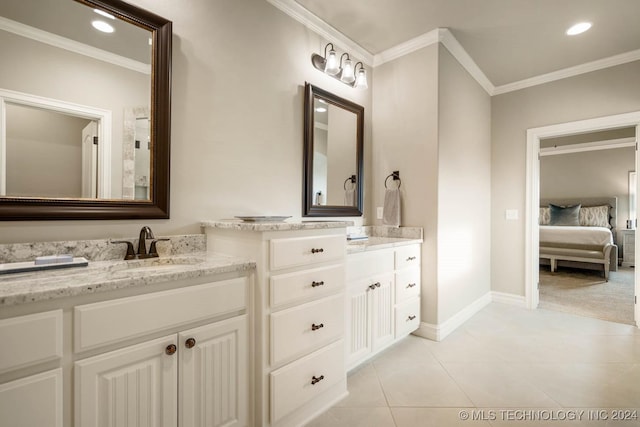
<instances>
[{"instance_id":1,"label":"bottom drawer of the tall four-drawer white cabinet","mask_svg":"<svg viewBox=\"0 0 640 427\"><path fill-rule=\"evenodd\" d=\"M271 422L275 423L345 379L344 343L328 345L270 376Z\"/></svg>"}]
</instances>

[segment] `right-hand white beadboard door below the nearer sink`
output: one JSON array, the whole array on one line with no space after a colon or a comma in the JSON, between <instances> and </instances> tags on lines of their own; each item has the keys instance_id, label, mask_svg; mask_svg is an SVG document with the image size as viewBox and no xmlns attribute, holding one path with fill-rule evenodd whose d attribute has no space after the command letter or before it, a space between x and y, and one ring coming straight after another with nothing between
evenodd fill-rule
<instances>
[{"instance_id":1,"label":"right-hand white beadboard door below the nearer sink","mask_svg":"<svg viewBox=\"0 0 640 427\"><path fill-rule=\"evenodd\" d=\"M248 425L247 316L181 332L180 427Z\"/></svg>"}]
</instances>

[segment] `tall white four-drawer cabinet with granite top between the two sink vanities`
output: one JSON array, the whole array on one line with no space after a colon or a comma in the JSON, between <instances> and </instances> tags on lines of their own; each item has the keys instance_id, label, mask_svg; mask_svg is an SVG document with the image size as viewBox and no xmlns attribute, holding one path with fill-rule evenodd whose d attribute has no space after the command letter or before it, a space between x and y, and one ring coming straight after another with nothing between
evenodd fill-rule
<instances>
[{"instance_id":1,"label":"tall white four-drawer cabinet with granite top between the two sink vanities","mask_svg":"<svg viewBox=\"0 0 640 427\"><path fill-rule=\"evenodd\" d=\"M301 426L346 395L346 229L204 224L210 252L257 261L256 426Z\"/></svg>"}]
</instances>

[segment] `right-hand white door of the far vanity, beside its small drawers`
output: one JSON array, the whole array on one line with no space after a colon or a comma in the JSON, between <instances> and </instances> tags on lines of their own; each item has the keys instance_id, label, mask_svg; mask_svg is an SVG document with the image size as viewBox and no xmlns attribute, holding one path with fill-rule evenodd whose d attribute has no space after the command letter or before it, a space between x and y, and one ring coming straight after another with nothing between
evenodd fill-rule
<instances>
[{"instance_id":1,"label":"right-hand white door of the far vanity, beside its small drawers","mask_svg":"<svg viewBox=\"0 0 640 427\"><path fill-rule=\"evenodd\" d=\"M393 333L393 274L376 276L375 284L370 294L371 309L371 349L378 349L389 345L394 339Z\"/></svg>"}]
</instances>

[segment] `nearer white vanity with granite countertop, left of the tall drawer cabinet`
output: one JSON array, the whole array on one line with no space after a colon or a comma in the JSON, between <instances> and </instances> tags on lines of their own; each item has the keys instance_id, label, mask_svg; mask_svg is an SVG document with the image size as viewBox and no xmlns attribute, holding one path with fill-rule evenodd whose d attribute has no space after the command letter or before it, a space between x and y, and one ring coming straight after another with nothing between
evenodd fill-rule
<instances>
[{"instance_id":1,"label":"nearer white vanity with granite countertop, left of the tall drawer cabinet","mask_svg":"<svg viewBox=\"0 0 640 427\"><path fill-rule=\"evenodd\" d=\"M251 425L254 267L203 252L1 277L3 425Z\"/></svg>"}]
</instances>

